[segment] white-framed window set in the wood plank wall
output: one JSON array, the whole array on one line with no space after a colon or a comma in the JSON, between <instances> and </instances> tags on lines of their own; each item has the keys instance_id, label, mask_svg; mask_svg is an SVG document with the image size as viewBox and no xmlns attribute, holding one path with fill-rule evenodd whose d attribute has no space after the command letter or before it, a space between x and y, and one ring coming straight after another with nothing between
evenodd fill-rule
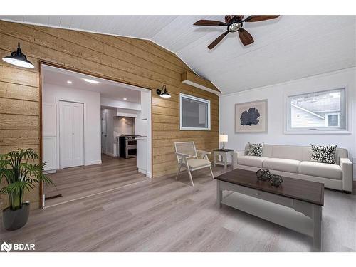
<instances>
[{"instance_id":1,"label":"white-framed window set in the wood plank wall","mask_svg":"<svg viewBox=\"0 0 356 267\"><path fill-rule=\"evenodd\" d=\"M180 130L210 130L210 101L179 95Z\"/></svg>"}]
</instances>

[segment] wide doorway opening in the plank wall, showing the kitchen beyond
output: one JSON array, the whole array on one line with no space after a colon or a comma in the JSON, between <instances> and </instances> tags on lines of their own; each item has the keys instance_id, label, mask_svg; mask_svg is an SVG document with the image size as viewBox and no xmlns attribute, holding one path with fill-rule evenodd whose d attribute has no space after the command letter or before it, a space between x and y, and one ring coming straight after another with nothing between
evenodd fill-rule
<instances>
[{"instance_id":1,"label":"wide doorway opening in the plank wall, showing the kitchen beyond","mask_svg":"<svg viewBox=\"0 0 356 267\"><path fill-rule=\"evenodd\" d=\"M41 63L42 206L152 177L151 90Z\"/></svg>"}]
</instances>

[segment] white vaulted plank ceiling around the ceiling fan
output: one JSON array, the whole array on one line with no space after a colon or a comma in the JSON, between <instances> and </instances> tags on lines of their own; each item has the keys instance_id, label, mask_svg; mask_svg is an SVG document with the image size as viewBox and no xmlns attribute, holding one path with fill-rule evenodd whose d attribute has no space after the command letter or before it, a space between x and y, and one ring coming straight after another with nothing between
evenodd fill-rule
<instances>
[{"instance_id":1,"label":"white vaulted plank ceiling around the ceiling fan","mask_svg":"<svg viewBox=\"0 0 356 267\"><path fill-rule=\"evenodd\" d=\"M245 23L255 42L237 33L214 50L207 46L226 28L193 26L224 16L0 16L0 19L147 38L182 58L223 94L356 66L356 16L281 16Z\"/></svg>"}]
</instances>

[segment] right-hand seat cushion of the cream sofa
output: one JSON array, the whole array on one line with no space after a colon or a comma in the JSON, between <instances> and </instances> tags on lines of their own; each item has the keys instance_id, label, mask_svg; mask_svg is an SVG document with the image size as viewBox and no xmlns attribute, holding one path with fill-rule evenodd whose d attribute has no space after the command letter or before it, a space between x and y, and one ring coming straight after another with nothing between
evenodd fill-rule
<instances>
[{"instance_id":1,"label":"right-hand seat cushion of the cream sofa","mask_svg":"<svg viewBox=\"0 0 356 267\"><path fill-rule=\"evenodd\" d=\"M342 179L341 167L337 164L330 163L300 162L299 173L330 179Z\"/></svg>"}]
</instances>

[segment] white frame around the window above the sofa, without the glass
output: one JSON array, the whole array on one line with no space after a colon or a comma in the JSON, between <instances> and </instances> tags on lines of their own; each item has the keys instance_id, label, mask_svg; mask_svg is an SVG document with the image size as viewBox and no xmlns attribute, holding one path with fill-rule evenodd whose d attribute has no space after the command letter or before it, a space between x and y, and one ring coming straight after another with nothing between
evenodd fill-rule
<instances>
[{"instance_id":1,"label":"white frame around the window above the sofa, without the glass","mask_svg":"<svg viewBox=\"0 0 356 267\"><path fill-rule=\"evenodd\" d=\"M333 91L339 91L339 90L344 90L343 93L343 104L342 106L342 115L345 116L345 128L340 128L339 127L305 127L305 128L296 128L293 129L290 127L291 125L291 101L290 99L299 96L299 95L312 95L315 93L328 93L328 92L333 92ZM285 117L284 117L284 134L288 135L295 135L295 134L302 134L302 135L323 135L323 134L335 134L335 135L340 135L340 134L351 134L350 132L350 110L349 110L349 103L348 103L348 98L347 98L347 86L339 86L333 89L323 89L323 90L308 90L308 91L302 91L298 92L295 94L288 94L285 95ZM331 113L328 113L329 115ZM327 120L327 119L325 119ZM342 117L340 117L339 124L342 121Z\"/></svg>"}]
</instances>

